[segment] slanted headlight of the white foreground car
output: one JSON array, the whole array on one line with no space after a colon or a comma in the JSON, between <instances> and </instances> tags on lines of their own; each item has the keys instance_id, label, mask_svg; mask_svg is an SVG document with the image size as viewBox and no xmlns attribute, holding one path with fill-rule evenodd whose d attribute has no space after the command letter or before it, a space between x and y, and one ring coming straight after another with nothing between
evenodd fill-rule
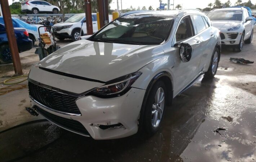
<instances>
[{"instance_id":1,"label":"slanted headlight of the white foreground car","mask_svg":"<svg viewBox=\"0 0 256 162\"><path fill-rule=\"evenodd\" d=\"M109 81L108 84L97 87L91 91L92 95L99 97L116 97L125 94L142 72L135 72Z\"/></svg>"}]
</instances>

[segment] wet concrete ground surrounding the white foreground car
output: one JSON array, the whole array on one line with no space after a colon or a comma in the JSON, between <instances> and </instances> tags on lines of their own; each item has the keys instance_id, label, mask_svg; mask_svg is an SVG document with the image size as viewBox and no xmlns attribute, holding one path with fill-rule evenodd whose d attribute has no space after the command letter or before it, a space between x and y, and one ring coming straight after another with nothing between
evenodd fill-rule
<instances>
[{"instance_id":1,"label":"wet concrete ground surrounding the white foreground car","mask_svg":"<svg viewBox=\"0 0 256 162\"><path fill-rule=\"evenodd\" d=\"M37 61L33 52L22 57L25 72ZM256 63L229 62L230 57L256 61L255 56L256 37L240 53L224 48L215 78L178 95L150 138L96 141L44 120L19 125L42 119L25 112L27 89L0 96L0 161L256 161ZM0 66L0 75L12 75L8 66ZM217 128L225 130L214 132Z\"/></svg>"}]
</instances>

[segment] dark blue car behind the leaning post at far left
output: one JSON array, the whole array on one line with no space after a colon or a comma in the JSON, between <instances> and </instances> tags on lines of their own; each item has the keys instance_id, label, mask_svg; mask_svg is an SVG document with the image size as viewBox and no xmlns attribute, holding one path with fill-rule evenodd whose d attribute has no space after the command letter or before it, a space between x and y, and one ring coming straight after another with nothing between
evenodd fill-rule
<instances>
[{"instance_id":1,"label":"dark blue car behind the leaning post at far left","mask_svg":"<svg viewBox=\"0 0 256 162\"><path fill-rule=\"evenodd\" d=\"M25 28L14 28L15 37L18 44L19 53L30 50L33 41L29 39L28 32ZM8 38L4 24L0 23L0 62L12 63L12 56L8 44Z\"/></svg>"}]
</instances>

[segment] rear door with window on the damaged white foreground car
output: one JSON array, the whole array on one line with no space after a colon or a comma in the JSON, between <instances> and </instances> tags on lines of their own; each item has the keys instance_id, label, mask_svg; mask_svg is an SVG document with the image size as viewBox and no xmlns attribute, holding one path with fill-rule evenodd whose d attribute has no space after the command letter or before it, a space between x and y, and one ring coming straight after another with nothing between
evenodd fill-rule
<instances>
[{"instance_id":1,"label":"rear door with window on the damaged white foreground car","mask_svg":"<svg viewBox=\"0 0 256 162\"><path fill-rule=\"evenodd\" d=\"M193 23L197 28L197 35L201 40L200 49L202 55L199 64L199 73L206 72L209 68L209 62L216 45L216 36L214 30L210 27L208 18L201 15L192 15Z\"/></svg>"}]
</instances>

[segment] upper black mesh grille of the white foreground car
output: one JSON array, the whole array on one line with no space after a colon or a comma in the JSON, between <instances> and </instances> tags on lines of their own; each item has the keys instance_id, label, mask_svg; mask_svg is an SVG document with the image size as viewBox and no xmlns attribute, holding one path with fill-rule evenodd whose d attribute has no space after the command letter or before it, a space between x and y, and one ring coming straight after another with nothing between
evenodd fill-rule
<instances>
[{"instance_id":1,"label":"upper black mesh grille of the white foreground car","mask_svg":"<svg viewBox=\"0 0 256 162\"><path fill-rule=\"evenodd\" d=\"M76 105L77 96L59 93L28 82L29 95L37 102L56 111L81 114Z\"/></svg>"}]
</instances>

